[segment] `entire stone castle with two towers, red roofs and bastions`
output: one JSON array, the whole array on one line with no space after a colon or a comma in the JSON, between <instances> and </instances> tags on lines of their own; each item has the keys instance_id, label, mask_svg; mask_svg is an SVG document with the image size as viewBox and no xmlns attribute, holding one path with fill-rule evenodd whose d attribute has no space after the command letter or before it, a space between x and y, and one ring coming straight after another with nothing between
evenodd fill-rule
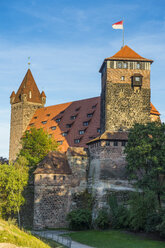
<instances>
[{"instance_id":1,"label":"entire stone castle with two towers, red roofs and bastions","mask_svg":"<svg viewBox=\"0 0 165 248\"><path fill-rule=\"evenodd\" d=\"M28 69L10 96L9 159L16 159L20 138L31 127L43 128L59 143L59 151L49 153L35 171L35 228L65 227L75 194L87 188L97 199L96 209L106 204L107 192L132 190L123 153L128 131L160 116L150 101L152 62L124 46L103 61L100 97L48 107Z\"/></svg>"}]
</instances>

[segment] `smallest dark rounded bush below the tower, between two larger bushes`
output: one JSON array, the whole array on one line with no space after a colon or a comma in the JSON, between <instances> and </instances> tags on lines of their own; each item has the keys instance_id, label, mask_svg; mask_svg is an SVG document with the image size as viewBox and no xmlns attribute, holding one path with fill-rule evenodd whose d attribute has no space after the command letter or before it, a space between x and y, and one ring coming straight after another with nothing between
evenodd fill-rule
<instances>
[{"instance_id":1,"label":"smallest dark rounded bush below the tower, between two larger bushes","mask_svg":"<svg viewBox=\"0 0 165 248\"><path fill-rule=\"evenodd\" d=\"M105 209L101 209L99 211L94 224L96 225L97 228L102 230L107 229L109 227L109 215Z\"/></svg>"}]
</instances>

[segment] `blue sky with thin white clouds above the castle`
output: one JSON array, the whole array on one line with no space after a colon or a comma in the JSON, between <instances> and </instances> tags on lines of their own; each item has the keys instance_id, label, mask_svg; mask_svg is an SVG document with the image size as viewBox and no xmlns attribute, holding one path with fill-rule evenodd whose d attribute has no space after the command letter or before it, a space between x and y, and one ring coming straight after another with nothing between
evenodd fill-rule
<instances>
[{"instance_id":1,"label":"blue sky with thin white clouds above the castle","mask_svg":"<svg viewBox=\"0 0 165 248\"><path fill-rule=\"evenodd\" d=\"M10 104L31 71L47 105L98 96L99 67L122 45L111 25L124 18L125 44L154 60L151 100L165 121L164 0L1 0L0 156L8 157Z\"/></svg>"}]
</instances>

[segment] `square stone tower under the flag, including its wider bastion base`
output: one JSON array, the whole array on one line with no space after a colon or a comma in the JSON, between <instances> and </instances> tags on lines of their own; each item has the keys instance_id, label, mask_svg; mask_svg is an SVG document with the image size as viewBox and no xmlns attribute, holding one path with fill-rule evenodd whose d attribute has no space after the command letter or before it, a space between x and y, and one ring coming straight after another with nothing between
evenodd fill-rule
<instances>
[{"instance_id":1,"label":"square stone tower under the flag, including its wider bastion base","mask_svg":"<svg viewBox=\"0 0 165 248\"><path fill-rule=\"evenodd\" d=\"M97 209L106 206L107 194L133 190L127 180L124 148L135 123L150 122L150 65L128 46L106 58L101 66L101 135L88 142L88 187Z\"/></svg>"}]
</instances>

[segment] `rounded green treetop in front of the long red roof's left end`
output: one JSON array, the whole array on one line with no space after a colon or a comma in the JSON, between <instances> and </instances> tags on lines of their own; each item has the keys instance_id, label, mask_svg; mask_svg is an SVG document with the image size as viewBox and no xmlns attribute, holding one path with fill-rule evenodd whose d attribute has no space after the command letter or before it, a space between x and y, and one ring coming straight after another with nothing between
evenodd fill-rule
<instances>
[{"instance_id":1,"label":"rounded green treetop in front of the long red roof's left end","mask_svg":"<svg viewBox=\"0 0 165 248\"><path fill-rule=\"evenodd\" d=\"M31 168L36 165L50 152L58 148L57 142L49 137L43 129L32 128L30 132L26 131L21 140L21 156L24 156Z\"/></svg>"}]
</instances>

